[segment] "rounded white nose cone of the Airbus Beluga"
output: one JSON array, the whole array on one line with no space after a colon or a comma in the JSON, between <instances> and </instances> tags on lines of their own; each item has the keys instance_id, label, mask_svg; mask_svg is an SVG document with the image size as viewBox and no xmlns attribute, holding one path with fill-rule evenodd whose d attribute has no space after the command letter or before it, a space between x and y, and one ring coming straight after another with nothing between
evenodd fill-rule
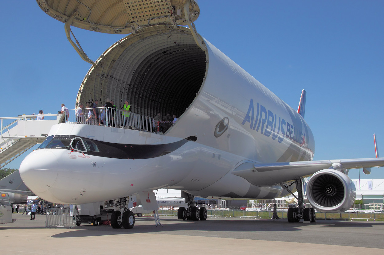
<instances>
[{"instance_id":1,"label":"rounded white nose cone of the Airbus Beluga","mask_svg":"<svg viewBox=\"0 0 384 255\"><path fill-rule=\"evenodd\" d=\"M56 181L58 161L50 150L30 153L20 165L20 176L25 185L37 195L47 191Z\"/></svg>"}]
</instances>

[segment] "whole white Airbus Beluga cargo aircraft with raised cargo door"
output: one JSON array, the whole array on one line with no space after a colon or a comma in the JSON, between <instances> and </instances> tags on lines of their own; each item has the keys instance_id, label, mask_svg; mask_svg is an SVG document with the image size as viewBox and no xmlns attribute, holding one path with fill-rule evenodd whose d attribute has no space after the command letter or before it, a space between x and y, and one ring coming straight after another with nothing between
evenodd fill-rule
<instances>
[{"instance_id":1,"label":"whole white Airbus Beluga cargo aircraft with raised cargo door","mask_svg":"<svg viewBox=\"0 0 384 255\"><path fill-rule=\"evenodd\" d=\"M200 12L193 0L37 3L65 23L70 41L71 25L130 33L95 62L71 41L93 64L76 105L95 97L103 105L108 97L116 105L127 100L131 113L104 111L108 116L101 123L93 112L96 125L68 121L51 128L20 166L28 188L47 201L115 199L112 226L131 228L129 202L138 194L141 202L156 203L154 189L182 190L189 206L178 217L189 220L207 218L194 196L273 199L297 189L298 207L288 210L288 221L313 221L314 209L342 212L353 204L356 189L348 169L369 172L384 165L384 158L312 161L315 144L304 120L305 91L299 109L292 109L202 38L193 24ZM180 118L164 134L146 132L151 130L140 124L168 111ZM307 176L313 208L303 203Z\"/></svg>"}]
</instances>

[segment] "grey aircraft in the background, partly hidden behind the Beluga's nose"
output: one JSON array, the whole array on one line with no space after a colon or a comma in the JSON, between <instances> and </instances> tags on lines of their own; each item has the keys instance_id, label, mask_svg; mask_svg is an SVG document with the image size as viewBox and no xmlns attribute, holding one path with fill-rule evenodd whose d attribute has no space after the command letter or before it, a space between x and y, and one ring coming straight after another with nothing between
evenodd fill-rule
<instances>
[{"instance_id":1,"label":"grey aircraft in the background, partly hidden behind the Beluga's nose","mask_svg":"<svg viewBox=\"0 0 384 255\"><path fill-rule=\"evenodd\" d=\"M26 204L28 198L27 187L20 177L19 170L8 174L0 180L0 192L7 192L11 204Z\"/></svg>"}]
</instances>

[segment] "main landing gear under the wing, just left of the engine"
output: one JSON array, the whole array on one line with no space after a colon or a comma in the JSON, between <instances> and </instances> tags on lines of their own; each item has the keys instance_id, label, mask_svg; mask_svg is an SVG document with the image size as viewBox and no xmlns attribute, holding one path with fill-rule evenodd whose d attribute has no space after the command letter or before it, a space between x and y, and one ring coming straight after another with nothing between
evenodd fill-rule
<instances>
[{"instance_id":1,"label":"main landing gear under the wing, just left of the engine","mask_svg":"<svg viewBox=\"0 0 384 255\"><path fill-rule=\"evenodd\" d=\"M297 197L288 189L293 183L296 184L297 189ZM303 179L296 179L293 183L291 183L288 187L283 183L280 184L281 187L286 189L297 199L298 207L289 207L287 218L288 222L299 222L300 219L309 222L316 222L316 212L314 208L306 208L304 205L304 196L303 196Z\"/></svg>"}]
</instances>

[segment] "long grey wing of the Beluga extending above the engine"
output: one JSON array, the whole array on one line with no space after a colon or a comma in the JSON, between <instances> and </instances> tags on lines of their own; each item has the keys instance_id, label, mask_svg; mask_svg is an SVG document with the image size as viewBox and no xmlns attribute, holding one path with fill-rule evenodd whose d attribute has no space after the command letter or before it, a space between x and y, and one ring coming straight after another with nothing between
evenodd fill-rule
<instances>
[{"instance_id":1,"label":"long grey wing of the Beluga extending above the engine","mask_svg":"<svg viewBox=\"0 0 384 255\"><path fill-rule=\"evenodd\" d=\"M363 168L370 173L370 167L384 166L384 158L360 158L349 160L316 160L292 161L268 164L243 163L232 170L232 174L240 176L250 183L269 187L285 183L300 177L308 177L323 169L355 169Z\"/></svg>"}]
</instances>

